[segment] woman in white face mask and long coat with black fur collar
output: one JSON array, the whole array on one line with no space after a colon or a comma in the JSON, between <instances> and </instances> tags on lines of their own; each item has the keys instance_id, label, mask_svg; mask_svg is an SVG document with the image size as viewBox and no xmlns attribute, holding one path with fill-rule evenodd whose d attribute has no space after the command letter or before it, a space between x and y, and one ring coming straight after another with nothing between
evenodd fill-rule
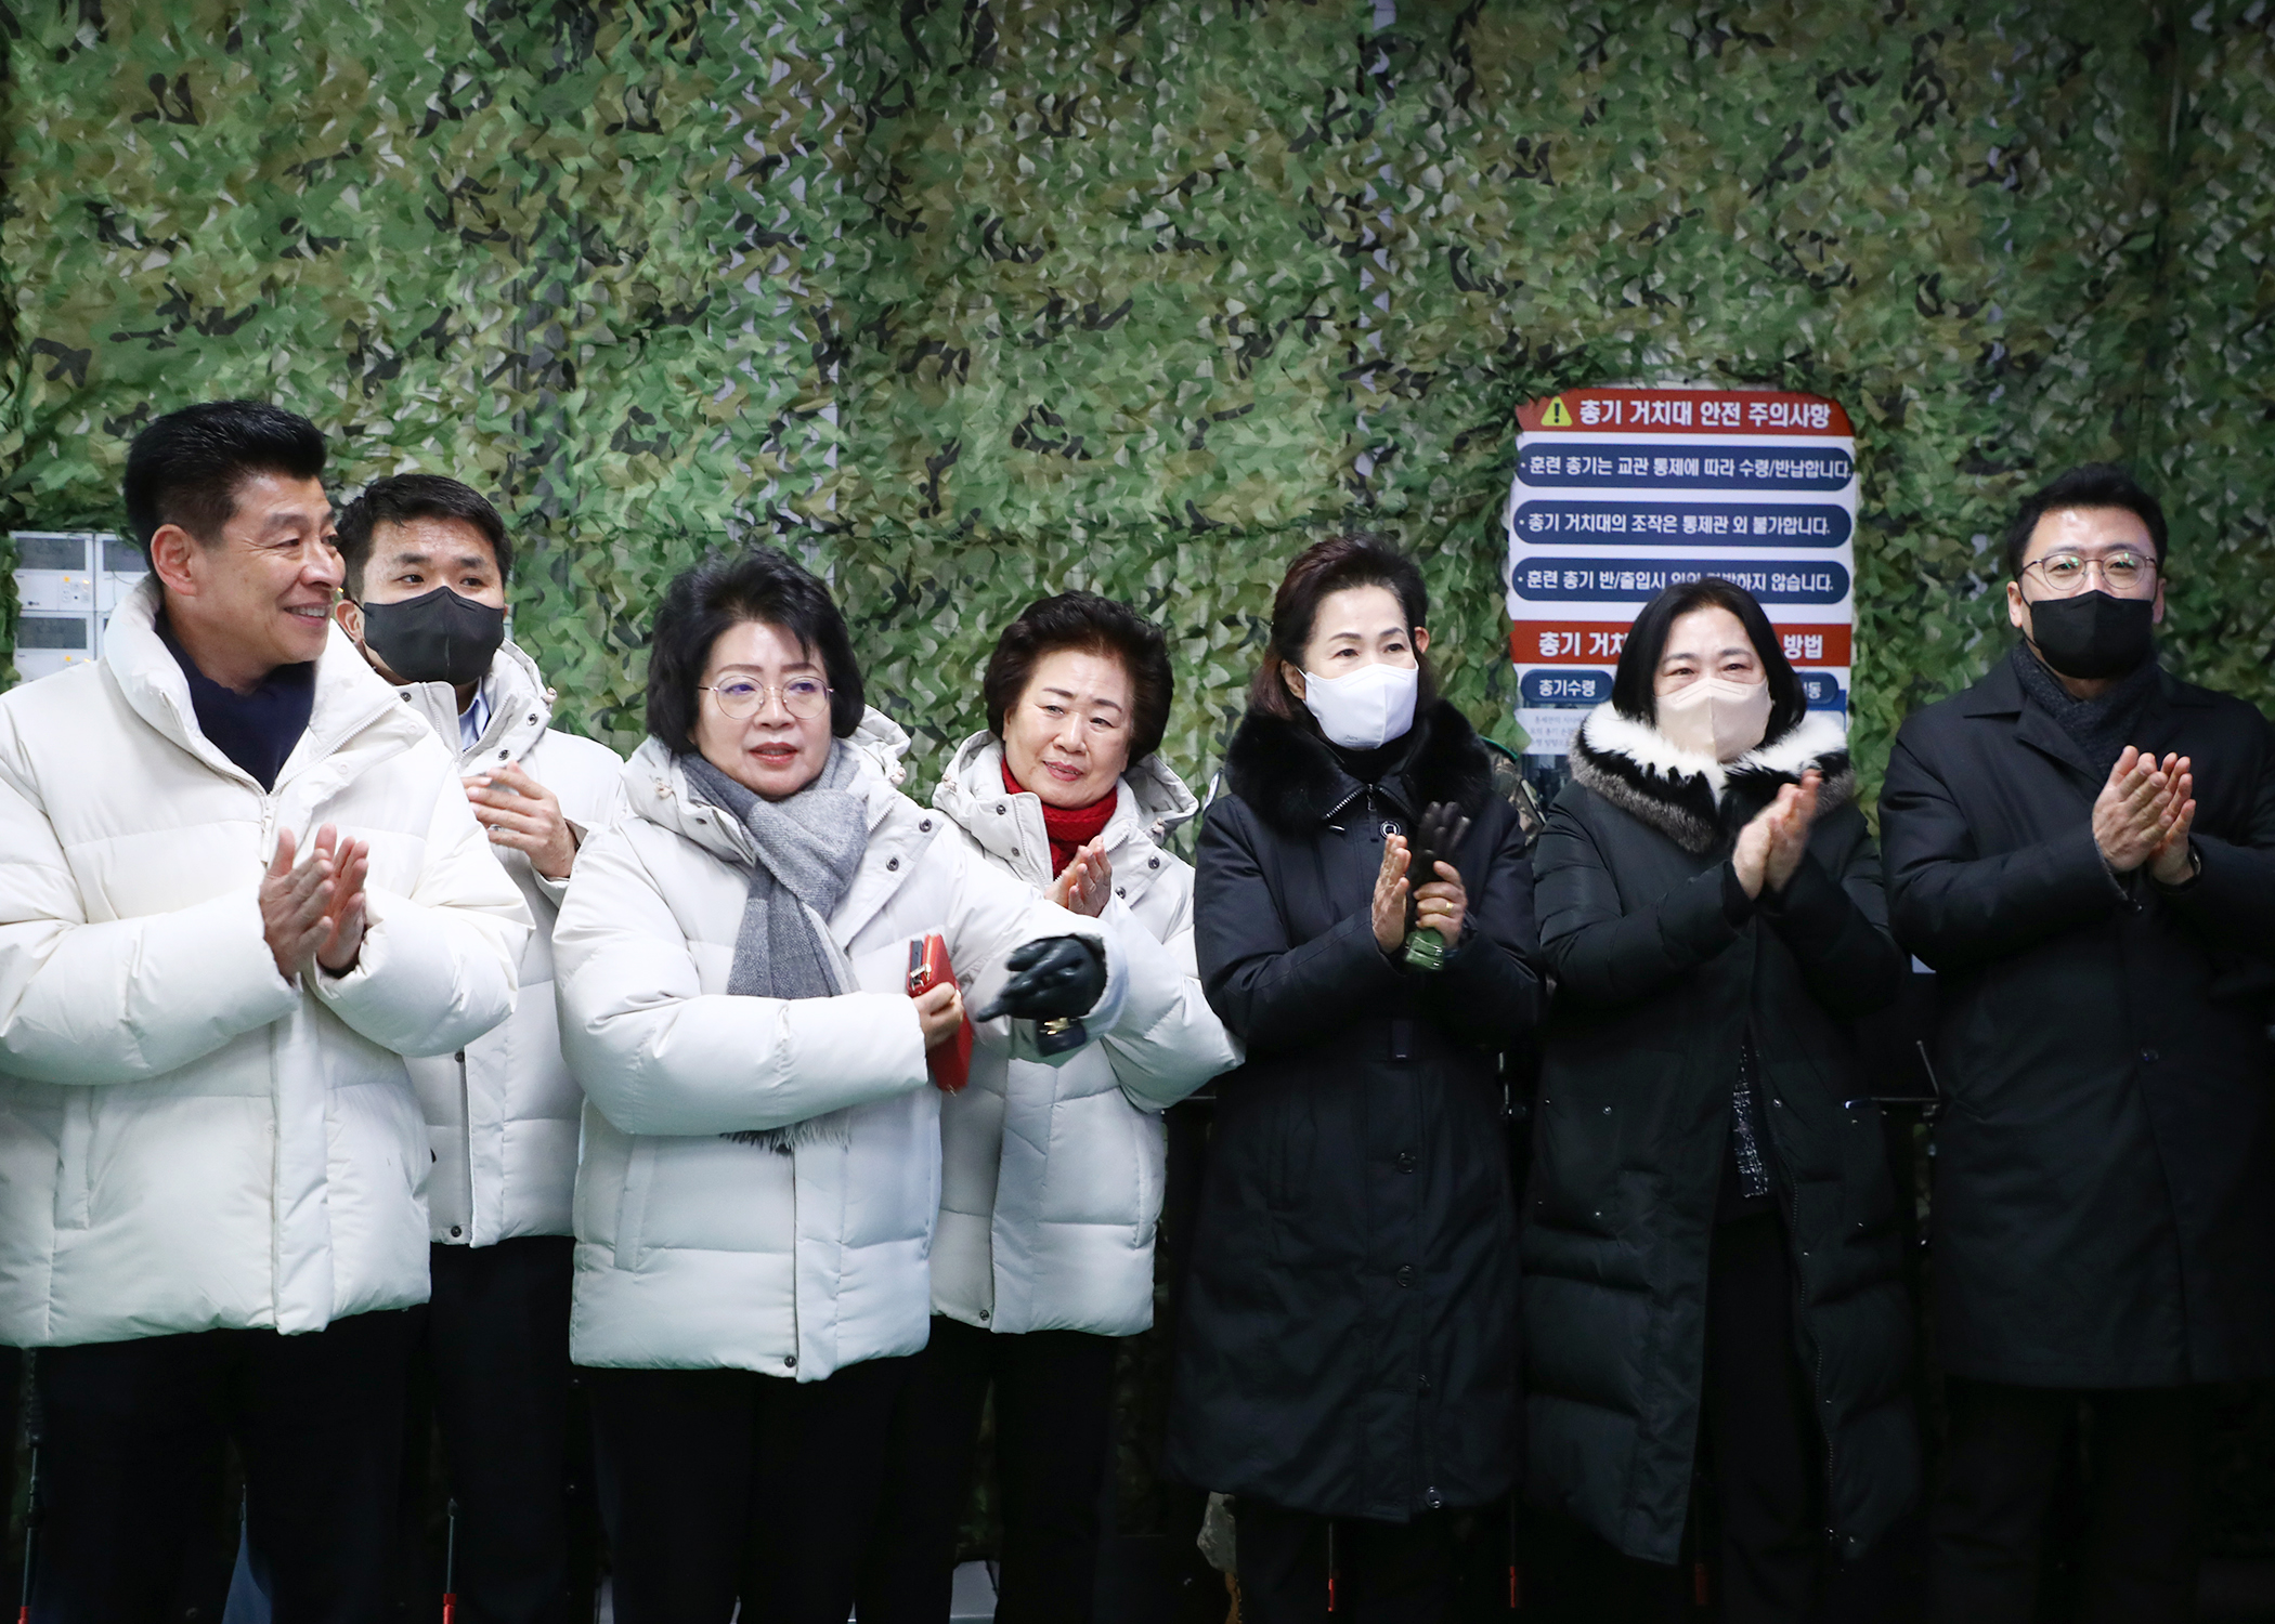
<instances>
[{"instance_id":1,"label":"woman in white face mask and long coat with black fur collar","mask_svg":"<svg viewBox=\"0 0 2275 1624\"><path fill-rule=\"evenodd\" d=\"M1531 873L1470 723L1431 694L1413 562L1322 541L1274 598L1208 807L1194 937L1247 1044L1217 1083L1167 1465L1235 1497L1249 1624L1436 1617L1451 1513L1520 1465L1497 1053L1538 1021ZM1424 810L1470 830L1408 876ZM1408 885L1442 969L1401 960Z\"/></svg>"}]
</instances>

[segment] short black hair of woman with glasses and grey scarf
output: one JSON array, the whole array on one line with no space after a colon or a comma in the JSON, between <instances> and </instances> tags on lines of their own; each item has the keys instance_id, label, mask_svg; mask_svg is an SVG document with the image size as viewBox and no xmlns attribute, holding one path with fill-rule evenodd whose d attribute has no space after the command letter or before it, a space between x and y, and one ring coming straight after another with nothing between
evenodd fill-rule
<instances>
[{"instance_id":1,"label":"short black hair of woman with glasses and grey scarf","mask_svg":"<svg viewBox=\"0 0 2275 1624\"><path fill-rule=\"evenodd\" d=\"M648 732L673 755L694 753L703 666L712 644L744 621L776 625L821 657L821 678L830 685L830 732L849 737L867 701L846 616L812 571L771 546L712 553L664 587L648 635Z\"/></svg>"}]
</instances>

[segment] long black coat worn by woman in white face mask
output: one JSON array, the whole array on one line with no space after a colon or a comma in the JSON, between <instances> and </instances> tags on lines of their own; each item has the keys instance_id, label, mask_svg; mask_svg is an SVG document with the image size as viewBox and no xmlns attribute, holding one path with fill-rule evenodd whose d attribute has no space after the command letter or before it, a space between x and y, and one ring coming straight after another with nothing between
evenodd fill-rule
<instances>
[{"instance_id":1,"label":"long black coat worn by woman in white face mask","mask_svg":"<svg viewBox=\"0 0 2275 1624\"><path fill-rule=\"evenodd\" d=\"M1333 1517L1406 1522L1520 1467L1517 1249L1497 1051L1540 1019L1515 810L1451 705L1370 789L1249 712L1208 807L1194 944L1247 1044L1217 1124L1176 1328L1167 1467ZM1445 969L1374 942L1383 835L1474 819Z\"/></svg>"}]
</instances>

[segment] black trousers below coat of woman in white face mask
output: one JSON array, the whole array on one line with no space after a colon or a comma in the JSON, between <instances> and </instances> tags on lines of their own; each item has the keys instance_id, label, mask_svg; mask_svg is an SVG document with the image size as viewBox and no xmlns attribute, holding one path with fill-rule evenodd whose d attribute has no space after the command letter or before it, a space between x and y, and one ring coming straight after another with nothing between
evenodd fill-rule
<instances>
[{"instance_id":1,"label":"black trousers below coat of woman in white face mask","mask_svg":"<svg viewBox=\"0 0 2275 1624\"><path fill-rule=\"evenodd\" d=\"M1315 1517L1233 1501L1240 1624L1438 1624L1454 1599L1454 1513L1413 1522Z\"/></svg>"}]
</instances>

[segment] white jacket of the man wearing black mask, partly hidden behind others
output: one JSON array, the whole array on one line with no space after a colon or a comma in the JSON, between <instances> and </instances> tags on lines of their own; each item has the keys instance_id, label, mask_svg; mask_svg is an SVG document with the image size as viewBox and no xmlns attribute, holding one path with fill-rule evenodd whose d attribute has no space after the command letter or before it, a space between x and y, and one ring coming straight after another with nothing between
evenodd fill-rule
<instances>
[{"instance_id":1,"label":"white jacket of the man wearing black mask, partly hidden behind others","mask_svg":"<svg viewBox=\"0 0 2275 1624\"><path fill-rule=\"evenodd\" d=\"M580 844L617 821L623 757L548 726L553 689L516 644L505 644L489 662L489 726L473 748L460 746L457 689L448 682L414 682L396 691L460 757L460 773L471 778L519 762L560 796L562 817ZM457 1246L569 1233L578 1115L585 1108L585 1094L562 1060L553 1008L553 919L569 880L537 873L530 855L514 846L494 851L537 921L521 948L521 1001L510 1021L457 1053L412 1060L435 1158L428 1224L435 1240Z\"/></svg>"}]
</instances>

